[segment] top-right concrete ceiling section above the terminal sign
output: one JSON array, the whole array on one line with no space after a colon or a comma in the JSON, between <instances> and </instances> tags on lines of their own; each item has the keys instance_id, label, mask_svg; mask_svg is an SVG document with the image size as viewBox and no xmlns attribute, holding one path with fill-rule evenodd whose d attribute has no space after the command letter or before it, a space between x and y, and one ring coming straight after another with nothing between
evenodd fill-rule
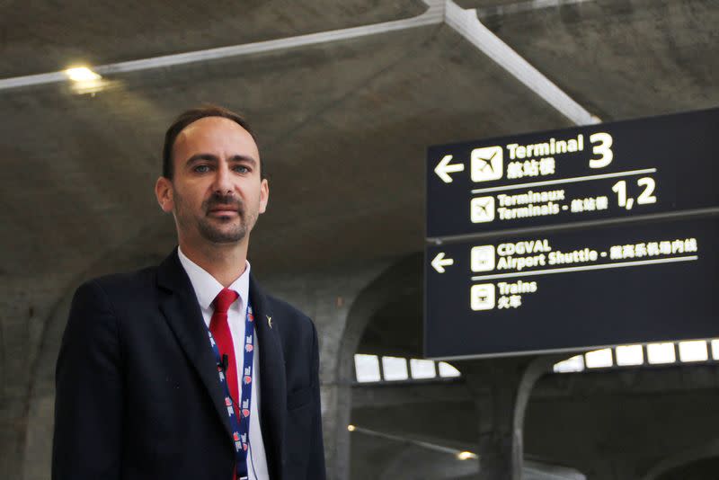
<instances>
[{"instance_id":1,"label":"top-right concrete ceiling section above the terminal sign","mask_svg":"<svg viewBox=\"0 0 719 480\"><path fill-rule=\"evenodd\" d=\"M602 120L719 104L715 0L590 0L492 12L500 14L484 24Z\"/></svg>"}]
</instances>

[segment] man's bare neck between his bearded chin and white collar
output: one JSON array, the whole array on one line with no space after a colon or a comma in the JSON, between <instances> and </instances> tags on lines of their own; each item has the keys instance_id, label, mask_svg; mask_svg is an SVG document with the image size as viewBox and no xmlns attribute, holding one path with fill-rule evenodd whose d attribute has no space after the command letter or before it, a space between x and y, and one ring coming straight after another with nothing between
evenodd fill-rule
<instances>
[{"instance_id":1,"label":"man's bare neck between his bearded chin and white collar","mask_svg":"<svg viewBox=\"0 0 719 480\"><path fill-rule=\"evenodd\" d=\"M240 278L247 266L247 244L214 244L195 247L180 241L182 253L207 271L223 287Z\"/></svg>"}]
</instances>

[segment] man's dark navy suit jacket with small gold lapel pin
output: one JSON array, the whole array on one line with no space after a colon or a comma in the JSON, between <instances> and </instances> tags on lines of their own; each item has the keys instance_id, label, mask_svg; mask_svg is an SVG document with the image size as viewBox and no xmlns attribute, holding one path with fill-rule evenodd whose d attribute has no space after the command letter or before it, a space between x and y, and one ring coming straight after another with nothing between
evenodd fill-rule
<instances>
[{"instance_id":1,"label":"man's dark navy suit jacket with small gold lapel pin","mask_svg":"<svg viewBox=\"0 0 719 480\"><path fill-rule=\"evenodd\" d=\"M315 326L252 275L250 301L270 477L324 479ZM56 371L52 478L231 480L234 464L207 327L176 250L77 289Z\"/></svg>"}]
</instances>

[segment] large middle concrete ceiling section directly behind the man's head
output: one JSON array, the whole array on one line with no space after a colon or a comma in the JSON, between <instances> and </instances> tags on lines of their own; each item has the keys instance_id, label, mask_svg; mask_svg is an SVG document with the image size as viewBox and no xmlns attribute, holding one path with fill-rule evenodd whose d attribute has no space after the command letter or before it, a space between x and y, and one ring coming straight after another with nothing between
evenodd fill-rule
<instances>
[{"instance_id":1,"label":"large middle concrete ceiling section directly behind the man's head","mask_svg":"<svg viewBox=\"0 0 719 480\"><path fill-rule=\"evenodd\" d=\"M568 125L445 26L113 81L94 96L67 84L0 92L13 111L0 148L17 172L0 197L8 273L171 234L152 192L162 135L199 102L241 109L259 132L271 205L253 258L266 272L418 251L428 145Z\"/></svg>"}]
</instances>

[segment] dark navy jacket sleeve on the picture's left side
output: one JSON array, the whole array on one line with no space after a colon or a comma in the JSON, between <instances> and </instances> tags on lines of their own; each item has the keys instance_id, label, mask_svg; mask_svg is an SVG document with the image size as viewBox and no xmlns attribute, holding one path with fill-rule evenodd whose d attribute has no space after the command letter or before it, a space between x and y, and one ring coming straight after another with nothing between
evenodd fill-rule
<instances>
[{"instance_id":1,"label":"dark navy jacket sleeve on the picture's left side","mask_svg":"<svg viewBox=\"0 0 719 480\"><path fill-rule=\"evenodd\" d=\"M122 372L117 317L96 282L75 292L55 373L53 480L120 478Z\"/></svg>"}]
</instances>

